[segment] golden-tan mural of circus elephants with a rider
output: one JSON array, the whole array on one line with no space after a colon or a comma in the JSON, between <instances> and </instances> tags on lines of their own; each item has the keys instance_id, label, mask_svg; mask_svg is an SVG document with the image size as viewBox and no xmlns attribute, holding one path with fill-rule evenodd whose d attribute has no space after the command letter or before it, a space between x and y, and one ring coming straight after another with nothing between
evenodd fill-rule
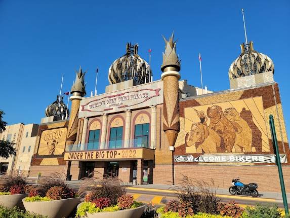
<instances>
[{"instance_id":1,"label":"golden-tan mural of circus elephants with a rider","mask_svg":"<svg viewBox=\"0 0 290 218\"><path fill-rule=\"evenodd\" d=\"M186 107L186 153L270 152L262 97Z\"/></svg>"}]
</instances>

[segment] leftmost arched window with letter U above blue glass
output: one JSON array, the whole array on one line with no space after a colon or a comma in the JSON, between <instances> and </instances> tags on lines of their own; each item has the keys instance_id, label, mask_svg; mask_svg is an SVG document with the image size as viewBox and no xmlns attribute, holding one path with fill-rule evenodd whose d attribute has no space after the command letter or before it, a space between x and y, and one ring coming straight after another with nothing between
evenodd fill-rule
<instances>
[{"instance_id":1,"label":"leftmost arched window with letter U above blue glass","mask_svg":"<svg viewBox=\"0 0 290 218\"><path fill-rule=\"evenodd\" d=\"M96 150L99 149L100 143L100 131L101 123L99 120L95 120L90 124L89 128L89 138L88 138L88 150Z\"/></svg>"}]
</instances>

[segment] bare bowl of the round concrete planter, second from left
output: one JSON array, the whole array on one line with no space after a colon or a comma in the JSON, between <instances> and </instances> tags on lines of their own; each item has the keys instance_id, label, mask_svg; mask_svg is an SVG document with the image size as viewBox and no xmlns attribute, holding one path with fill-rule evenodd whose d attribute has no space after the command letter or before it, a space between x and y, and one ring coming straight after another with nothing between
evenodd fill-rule
<instances>
[{"instance_id":1,"label":"bare bowl of the round concrete planter, second from left","mask_svg":"<svg viewBox=\"0 0 290 218\"><path fill-rule=\"evenodd\" d=\"M79 202L78 198L68 198L54 201L26 202L22 200L25 209L29 212L49 216L50 218L67 217Z\"/></svg>"}]
</instances>

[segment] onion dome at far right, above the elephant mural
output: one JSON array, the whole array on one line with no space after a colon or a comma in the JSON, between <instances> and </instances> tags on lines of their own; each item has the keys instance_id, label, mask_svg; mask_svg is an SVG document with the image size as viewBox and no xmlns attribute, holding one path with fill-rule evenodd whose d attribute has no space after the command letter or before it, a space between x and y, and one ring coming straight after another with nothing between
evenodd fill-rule
<instances>
[{"instance_id":1,"label":"onion dome at far right, above the elephant mural","mask_svg":"<svg viewBox=\"0 0 290 218\"><path fill-rule=\"evenodd\" d=\"M250 44L241 44L241 54L232 62L229 69L229 78L235 79L249 75L262 74L272 71L274 74L274 63L267 55L257 52Z\"/></svg>"}]
</instances>

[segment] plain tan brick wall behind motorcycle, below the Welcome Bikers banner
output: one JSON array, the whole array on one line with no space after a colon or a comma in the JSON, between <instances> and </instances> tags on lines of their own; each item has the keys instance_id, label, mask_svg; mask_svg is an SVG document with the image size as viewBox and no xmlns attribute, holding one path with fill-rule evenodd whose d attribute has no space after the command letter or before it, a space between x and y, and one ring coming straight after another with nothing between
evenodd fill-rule
<instances>
[{"instance_id":1,"label":"plain tan brick wall behind motorcycle, below the Welcome Bikers banner","mask_svg":"<svg viewBox=\"0 0 290 218\"><path fill-rule=\"evenodd\" d=\"M242 183L257 183L258 191L280 192L277 166L219 166L219 165L175 165L175 181L180 184L183 175L199 181L204 180L214 187L228 189L233 178L239 177ZM290 192L290 166L283 166L286 192ZM154 181L155 183L155 181ZM262 193L261 193L262 194Z\"/></svg>"}]
</instances>

